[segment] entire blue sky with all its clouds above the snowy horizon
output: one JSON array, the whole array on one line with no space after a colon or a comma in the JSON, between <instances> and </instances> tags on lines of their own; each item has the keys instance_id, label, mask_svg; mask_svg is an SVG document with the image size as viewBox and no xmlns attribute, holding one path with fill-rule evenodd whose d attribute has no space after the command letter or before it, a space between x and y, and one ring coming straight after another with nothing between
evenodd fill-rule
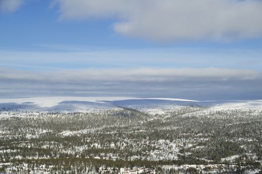
<instances>
[{"instance_id":1,"label":"entire blue sky with all its clouds above the snowy horizon","mask_svg":"<svg viewBox=\"0 0 262 174\"><path fill-rule=\"evenodd\" d=\"M0 0L0 98L262 99L261 0Z\"/></svg>"}]
</instances>

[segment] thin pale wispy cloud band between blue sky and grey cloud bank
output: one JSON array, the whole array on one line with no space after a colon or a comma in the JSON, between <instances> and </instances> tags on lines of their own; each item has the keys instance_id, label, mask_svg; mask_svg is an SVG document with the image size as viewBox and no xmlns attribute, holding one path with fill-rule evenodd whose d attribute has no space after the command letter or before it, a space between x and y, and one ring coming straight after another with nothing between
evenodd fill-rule
<instances>
[{"instance_id":1,"label":"thin pale wispy cloud band between blue sky and grey cloud bank","mask_svg":"<svg viewBox=\"0 0 262 174\"><path fill-rule=\"evenodd\" d=\"M63 46L61 46L61 49ZM1 64L60 69L85 68L234 68L262 67L261 49L144 48L144 49L78 49L74 51L0 50ZM248 61L248 62L247 62ZM24 66L25 67L25 66ZM20 69L22 67L17 67ZM29 68L29 67L28 67ZM43 68L39 70L44 70Z\"/></svg>"}]
</instances>

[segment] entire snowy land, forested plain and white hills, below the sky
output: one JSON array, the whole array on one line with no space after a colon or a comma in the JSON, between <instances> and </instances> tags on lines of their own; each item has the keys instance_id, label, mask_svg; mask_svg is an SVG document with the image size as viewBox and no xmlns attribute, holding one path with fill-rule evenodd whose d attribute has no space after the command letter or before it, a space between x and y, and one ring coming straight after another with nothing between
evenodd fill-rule
<instances>
[{"instance_id":1,"label":"entire snowy land, forested plain and white hills, below the sky","mask_svg":"<svg viewBox=\"0 0 262 174\"><path fill-rule=\"evenodd\" d=\"M0 99L3 174L261 174L262 100Z\"/></svg>"}]
</instances>

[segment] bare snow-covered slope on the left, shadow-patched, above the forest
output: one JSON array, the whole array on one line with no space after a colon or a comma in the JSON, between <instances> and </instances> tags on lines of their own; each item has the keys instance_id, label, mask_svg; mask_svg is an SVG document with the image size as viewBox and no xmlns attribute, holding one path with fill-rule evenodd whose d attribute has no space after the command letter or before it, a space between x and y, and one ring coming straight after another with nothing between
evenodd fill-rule
<instances>
[{"instance_id":1,"label":"bare snow-covered slope on the left, shadow-patched, above the forest","mask_svg":"<svg viewBox=\"0 0 262 174\"><path fill-rule=\"evenodd\" d=\"M0 111L88 112L114 108L95 97L37 97L0 100ZM104 98L103 98L104 99ZM106 98L119 99L119 98ZM120 98L122 99L122 98Z\"/></svg>"}]
</instances>

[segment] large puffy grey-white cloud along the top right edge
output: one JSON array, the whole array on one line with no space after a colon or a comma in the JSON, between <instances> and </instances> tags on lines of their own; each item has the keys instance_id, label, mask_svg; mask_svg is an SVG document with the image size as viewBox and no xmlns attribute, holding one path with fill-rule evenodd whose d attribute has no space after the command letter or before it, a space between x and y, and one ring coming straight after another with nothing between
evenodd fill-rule
<instances>
[{"instance_id":1,"label":"large puffy grey-white cloud along the top right edge","mask_svg":"<svg viewBox=\"0 0 262 174\"><path fill-rule=\"evenodd\" d=\"M261 0L56 0L61 19L117 17L115 31L156 41L262 36Z\"/></svg>"}]
</instances>

